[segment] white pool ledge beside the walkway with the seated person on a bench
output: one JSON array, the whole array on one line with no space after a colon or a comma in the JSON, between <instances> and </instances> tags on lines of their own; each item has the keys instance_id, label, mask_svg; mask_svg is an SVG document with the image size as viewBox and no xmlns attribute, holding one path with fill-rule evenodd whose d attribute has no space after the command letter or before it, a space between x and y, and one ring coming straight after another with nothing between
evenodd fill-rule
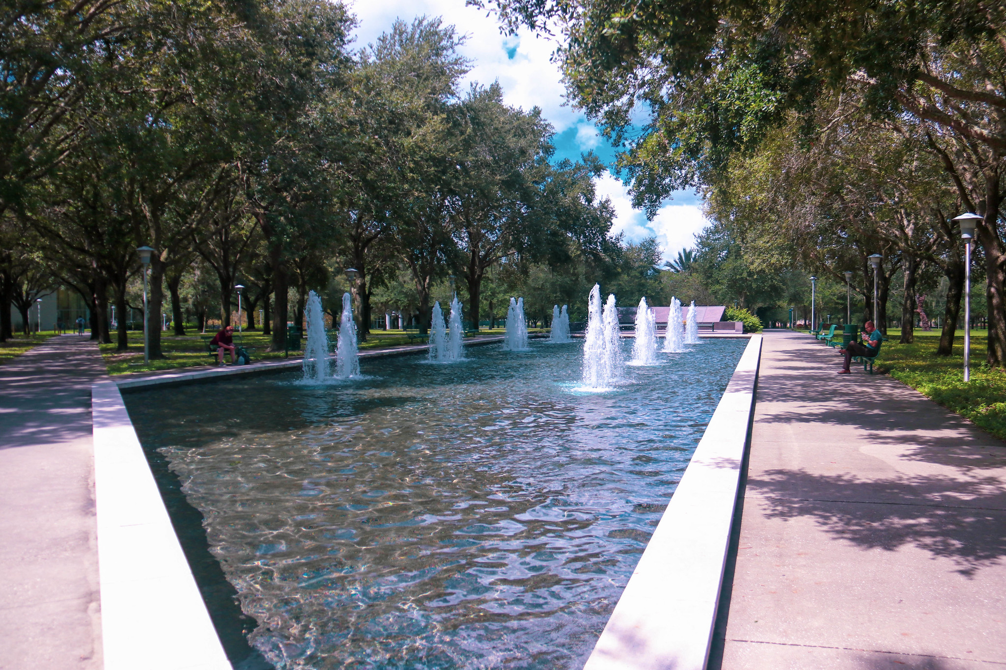
<instances>
[{"instance_id":1,"label":"white pool ledge beside the walkway with the seated person on a bench","mask_svg":"<svg viewBox=\"0 0 1006 670\"><path fill-rule=\"evenodd\" d=\"M761 357L756 334L583 670L705 669Z\"/></svg>"}]
</instances>

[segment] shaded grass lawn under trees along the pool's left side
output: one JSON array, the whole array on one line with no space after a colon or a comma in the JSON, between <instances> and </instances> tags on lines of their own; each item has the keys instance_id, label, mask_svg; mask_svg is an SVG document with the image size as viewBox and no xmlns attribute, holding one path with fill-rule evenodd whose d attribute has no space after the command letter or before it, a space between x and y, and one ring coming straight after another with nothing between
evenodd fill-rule
<instances>
[{"instance_id":1,"label":"shaded grass lawn under trees along the pool's left side","mask_svg":"<svg viewBox=\"0 0 1006 670\"><path fill-rule=\"evenodd\" d=\"M205 334L198 333L192 329L192 334L176 337L167 332L162 333L161 350L164 358L143 362L143 332L130 330L129 350L117 352L115 345L102 345L102 355L105 357L105 365L110 375L125 375L128 373L151 372L158 370L175 370L178 368L193 368L196 366L216 365L216 359L211 358L206 353L205 341L213 337L214 332L207 331ZM415 330L409 331L416 334ZM502 329L481 330L480 334L501 334ZM113 333L115 338L115 333ZM245 331L240 337L234 333L234 342L243 347L252 356L253 363L263 360L283 359L283 352L270 352L269 346L271 337L262 334L261 331ZM402 330L375 330L367 337L366 342L359 344L361 351L368 349L382 349L385 347L395 347L402 345L426 344L425 340L409 339ZM300 350L291 350L290 356L299 357ZM224 357L224 361L229 362L229 357Z\"/></svg>"}]
</instances>

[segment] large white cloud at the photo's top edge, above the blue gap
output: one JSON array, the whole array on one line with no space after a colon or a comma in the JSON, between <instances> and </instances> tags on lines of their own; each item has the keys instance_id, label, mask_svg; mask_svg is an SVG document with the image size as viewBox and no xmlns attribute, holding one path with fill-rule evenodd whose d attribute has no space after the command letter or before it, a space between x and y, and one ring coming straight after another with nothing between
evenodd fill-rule
<instances>
[{"instance_id":1,"label":"large white cloud at the photo's top edge, above the blue gap","mask_svg":"<svg viewBox=\"0 0 1006 670\"><path fill-rule=\"evenodd\" d=\"M366 46L391 27L395 18L411 21L416 16L441 16L453 24L468 42L459 50L472 59L472 70L463 82L484 85L499 80L508 104L529 109L541 107L545 119L559 133L574 126L582 116L562 105L564 88L558 66L549 60L556 43L527 30L513 37L500 34L494 16L465 6L465 0L357 0L350 5L360 25L357 48Z\"/></svg>"}]
</instances>

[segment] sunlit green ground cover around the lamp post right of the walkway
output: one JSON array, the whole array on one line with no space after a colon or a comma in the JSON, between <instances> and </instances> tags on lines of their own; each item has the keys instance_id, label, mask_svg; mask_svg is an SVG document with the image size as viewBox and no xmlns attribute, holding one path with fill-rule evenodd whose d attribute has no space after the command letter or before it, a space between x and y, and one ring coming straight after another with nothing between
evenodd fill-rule
<instances>
[{"instance_id":1,"label":"sunlit green ground cover around the lamp post right of the walkway","mask_svg":"<svg viewBox=\"0 0 1006 670\"><path fill-rule=\"evenodd\" d=\"M964 382L964 333L952 356L937 356L940 330L915 330L915 342L900 345L900 328L888 328L874 371L890 375L928 398L1006 440L1006 371L985 364L984 330L971 331L971 381Z\"/></svg>"}]
</instances>

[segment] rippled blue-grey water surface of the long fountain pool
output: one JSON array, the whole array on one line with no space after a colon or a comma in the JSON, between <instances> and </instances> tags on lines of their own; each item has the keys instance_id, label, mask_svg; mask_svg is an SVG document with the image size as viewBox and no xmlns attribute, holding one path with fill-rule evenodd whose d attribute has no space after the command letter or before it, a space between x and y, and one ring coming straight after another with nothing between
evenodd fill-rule
<instances>
[{"instance_id":1,"label":"rippled blue-grey water surface of the long fountain pool","mask_svg":"<svg viewBox=\"0 0 1006 670\"><path fill-rule=\"evenodd\" d=\"M745 344L604 394L574 390L581 343L532 343L126 401L278 668L579 668Z\"/></svg>"}]
</instances>

